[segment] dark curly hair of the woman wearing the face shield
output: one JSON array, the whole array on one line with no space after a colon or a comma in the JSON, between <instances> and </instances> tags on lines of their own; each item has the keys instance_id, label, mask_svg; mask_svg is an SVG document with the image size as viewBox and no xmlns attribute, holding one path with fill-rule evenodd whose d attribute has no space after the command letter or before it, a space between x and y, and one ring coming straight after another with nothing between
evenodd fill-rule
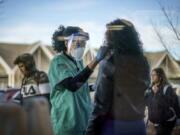
<instances>
[{"instance_id":1,"label":"dark curly hair of the woman wearing the face shield","mask_svg":"<svg viewBox=\"0 0 180 135\"><path fill-rule=\"evenodd\" d=\"M57 38L59 36L70 36L71 34L77 33L81 30L82 29L80 27L68 26L65 28L63 25L60 25L52 36L53 49L57 52L66 51L67 48L65 46L65 41L59 41Z\"/></svg>"}]
</instances>

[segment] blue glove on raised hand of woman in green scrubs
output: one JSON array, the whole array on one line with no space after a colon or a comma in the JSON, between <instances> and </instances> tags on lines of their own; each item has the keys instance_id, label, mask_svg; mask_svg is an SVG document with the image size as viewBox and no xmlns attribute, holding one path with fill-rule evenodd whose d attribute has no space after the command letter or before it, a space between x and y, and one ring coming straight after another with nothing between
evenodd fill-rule
<instances>
[{"instance_id":1,"label":"blue glove on raised hand of woman in green scrubs","mask_svg":"<svg viewBox=\"0 0 180 135\"><path fill-rule=\"evenodd\" d=\"M101 60L104 59L108 52L108 47L107 46L101 46L98 50L97 56L96 56L96 61L100 62Z\"/></svg>"}]
</instances>

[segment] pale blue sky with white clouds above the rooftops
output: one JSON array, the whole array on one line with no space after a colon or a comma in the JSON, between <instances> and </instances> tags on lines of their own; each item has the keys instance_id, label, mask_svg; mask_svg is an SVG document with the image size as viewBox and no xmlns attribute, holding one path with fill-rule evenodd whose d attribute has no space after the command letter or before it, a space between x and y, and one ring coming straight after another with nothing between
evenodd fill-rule
<instances>
[{"instance_id":1,"label":"pale blue sky with white clouds above the rooftops","mask_svg":"<svg viewBox=\"0 0 180 135\"><path fill-rule=\"evenodd\" d=\"M170 11L176 11L176 6L180 5L180 0L161 2ZM116 18L134 23L146 51L163 49L151 22L166 38L172 39L157 0L4 0L0 5L0 42L40 40L51 45L53 32L63 24L82 27L90 34L91 47L98 48L103 41L105 25Z\"/></svg>"}]
</instances>

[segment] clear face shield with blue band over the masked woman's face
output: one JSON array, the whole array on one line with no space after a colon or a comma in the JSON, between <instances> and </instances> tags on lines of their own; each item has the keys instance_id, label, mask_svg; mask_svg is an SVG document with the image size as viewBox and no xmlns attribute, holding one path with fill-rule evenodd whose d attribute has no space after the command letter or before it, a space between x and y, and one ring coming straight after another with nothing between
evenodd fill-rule
<instances>
[{"instance_id":1,"label":"clear face shield with blue band over the masked woman's face","mask_svg":"<svg viewBox=\"0 0 180 135\"><path fill-rule=\"evenodd\" d=\"M68 37L68 53L70 53L77 61L82 60L87 48L88 40L88 33L79 32L72 34Z\"/></svg>"}]
</instances>

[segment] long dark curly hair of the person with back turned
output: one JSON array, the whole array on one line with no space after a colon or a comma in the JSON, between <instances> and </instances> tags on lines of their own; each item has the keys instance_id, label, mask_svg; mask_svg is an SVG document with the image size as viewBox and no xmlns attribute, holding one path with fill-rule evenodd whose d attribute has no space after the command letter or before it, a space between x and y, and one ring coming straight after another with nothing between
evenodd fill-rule
<instances>
[{"instance_id":1,"label":"long dark curly hair of the person with back turned","mask_svg":"<svg viewBox=\"0 0 180 135\"><path fill-rule=\"evenodd\" d=\"M120 54L142 54L142 43L133 24L124 19L116 19L106 26L121 25L122 30L106 31L107 44L110 49Z\"/></svg>"}]
</instances>

